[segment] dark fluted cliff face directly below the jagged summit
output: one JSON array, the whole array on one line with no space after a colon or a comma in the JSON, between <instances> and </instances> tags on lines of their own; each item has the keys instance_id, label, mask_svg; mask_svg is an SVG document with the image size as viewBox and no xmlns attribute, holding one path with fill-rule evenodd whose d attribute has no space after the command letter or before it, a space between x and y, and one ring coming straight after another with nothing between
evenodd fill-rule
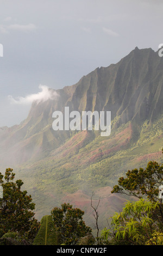
<instances>
[{"instance_id":1,"label":"dark fluted cliff face directly below the jagged summit","mask_svg":"<svg viewBox=\"0 0 163 256\"><path fill-rule=\"evenodd\" d=\"M151 48L135 48L117 64L84 76L71 106L80 111L109 110L112 119L121 116L120 124L135 118L153 120L162 113L162 60Z\"/></svg>"}]
</instances>

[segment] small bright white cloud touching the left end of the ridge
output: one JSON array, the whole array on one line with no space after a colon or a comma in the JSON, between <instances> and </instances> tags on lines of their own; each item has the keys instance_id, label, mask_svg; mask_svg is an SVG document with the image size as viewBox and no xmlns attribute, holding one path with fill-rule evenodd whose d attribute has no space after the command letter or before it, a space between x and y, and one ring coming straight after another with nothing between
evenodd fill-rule
<instances>
[{"instance_id":1,"label":"small bright white cloud touching the left end of the ridge","mask_svg":"<svg viewBox=\"0 0 163 256\"><path fill-rule=\"evenodd\" d=\"M30 94L26 97L17 97L17 99L14 99L11 95L9 95L8 97L11 103L28 105L34 101L36 101L36 103L39 103L41 101L44 102L47 100L57 99L57 97L59 96L57 92L49 89L47 86L42 86L40 84L39 89L41 89L41 92L36 94Z\"/></svg>"}]
</instances>

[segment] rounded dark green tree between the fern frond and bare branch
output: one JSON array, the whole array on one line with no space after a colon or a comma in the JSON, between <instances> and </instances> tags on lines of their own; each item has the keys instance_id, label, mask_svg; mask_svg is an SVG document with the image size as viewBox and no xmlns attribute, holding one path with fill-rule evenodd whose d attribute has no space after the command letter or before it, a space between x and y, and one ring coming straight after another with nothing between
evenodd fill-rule
<instances>
[{"instance_id":1,"label":"rounded dark green tree between the fern frond and bare branch","mask_svg":"<svg viewBox=\"0 0 163 256\"><path fill-rule=\"evenodd\" d=\"M61 244L76 245L80 237L92 232L83 221L84 211L72 208L70 204L64 203L61 208L55 207L51 214Z\"/></svg>"}]
</instances>

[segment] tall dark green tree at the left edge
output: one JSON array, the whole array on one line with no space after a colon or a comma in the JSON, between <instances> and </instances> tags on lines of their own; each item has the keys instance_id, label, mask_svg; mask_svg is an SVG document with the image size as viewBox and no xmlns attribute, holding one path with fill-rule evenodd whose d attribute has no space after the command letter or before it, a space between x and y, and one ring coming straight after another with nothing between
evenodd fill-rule
<instances>
[{"instance_id":1,"label":"tall dark green tree at the left edge","mask_svg":"<svg viewBox=\"0 0 163 256\"><path fill-rule=\"evenodd\" d=\"M0 198L0 236L15 232L18 237L33 241L39 222L34 218L35 204L27 191L21 191L22 180L14 182L13 169L6 169L5 175L0 173L0 185L3 198ZM13 238L13 237L12 237Z\"/></svg>"}]
</instances>

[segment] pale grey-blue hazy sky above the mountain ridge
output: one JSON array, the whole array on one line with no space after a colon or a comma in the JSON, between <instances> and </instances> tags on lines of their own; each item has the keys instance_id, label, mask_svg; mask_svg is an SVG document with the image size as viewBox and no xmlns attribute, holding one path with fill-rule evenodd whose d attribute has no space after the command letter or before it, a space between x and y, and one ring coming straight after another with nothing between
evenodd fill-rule
<instances>
[{"instance_id":1,"label":"pale grey-blue hazy sky above the mountain ridge","mask_svg":"<svg viewBox=\"0 0 163 256\"><path fill-rule=\"evenodd\" d=\"M157 51L162 14L162 0L0 0L0 126L24 120L47 87L71 86L136 46Z\"/></svg>"}]
</instances>

